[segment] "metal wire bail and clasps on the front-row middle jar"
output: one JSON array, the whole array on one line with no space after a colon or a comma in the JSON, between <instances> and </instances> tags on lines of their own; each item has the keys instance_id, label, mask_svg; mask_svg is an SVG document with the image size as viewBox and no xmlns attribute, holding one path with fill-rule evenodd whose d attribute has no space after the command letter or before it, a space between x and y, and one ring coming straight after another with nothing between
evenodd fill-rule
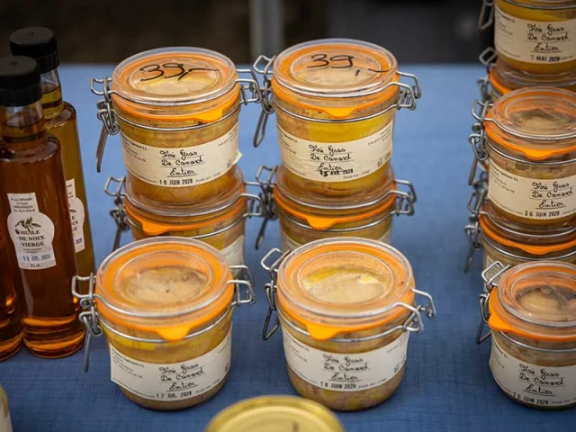
<instances>
[{"instance_id":1,"label":"metal wire bail and clasps on the front-row middle jar","mask_svg":"<svg viewBox=\"0 0 576 432\"><path fill-rule=\"evenodd\" d=\"M262 257L262 259L260 260L260 266L262 266L262 268L264 268L270 275L270 282L264 285L266 299L268 301L268 311L266 313L264 328L262 329L262 338L264 340L272 338L272 335L274 335L276 330L280 328L280 316L282 316L281 315L282 312L278 310L278 305L276 302L277 274L278 274L278 268L284 261L285 257L287 257L289 254L290 251L283 252L281 249L275 247L270 249L266 253L266 255ZM276 257L275 260L271 264L268 264L268 261L274 259L274 257ZM425 304L415 306L403 302L393 303L390 306L390 310L397 307L403 307L406 308L408 311L410 311L409 317L401 325L396 326L395 328L392 329L387 329L382 334L371 335L366 338L343 338L343 339L333 338L330 340L332 342L355 343L355 342L364 342L367 340L373 340L374 338L383 338L396 331L408 331L410 333L420 333L424 329L422 314L425 314L428 318L434 318L436 316L436 306L430 294L424 293L414 288L410 288L410 291L412 291L412 293L414 293L415 295L420 295L424 297L426 299L426 302ZM383 313L385 313L385 311L383 311ZM284 321L288 322L287 320ZM302 329L299 329L295 326L292 326L292 328L297 332L310 336L308 335L307 332L305 332Z\"/></svg>"}]
</instances>

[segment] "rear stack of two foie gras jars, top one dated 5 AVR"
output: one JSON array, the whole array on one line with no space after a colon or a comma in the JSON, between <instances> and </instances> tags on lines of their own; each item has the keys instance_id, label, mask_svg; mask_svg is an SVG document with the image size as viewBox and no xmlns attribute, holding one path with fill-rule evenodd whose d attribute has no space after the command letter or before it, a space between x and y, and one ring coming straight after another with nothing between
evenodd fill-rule
<instances>
[{"instance_id":1,"label":"rear stack of two foie gras jars, top one dated 5 AVR","mask_svg":"<svg viewBox=\"0 0 576 432\"><path fill-rule=\"evenodd\" d=\"M416 201L391 166L395 113L416 107L416 76L400 72L382 47L340 39L260 57L254 68L265 82L255 146L276 112L282 165L263 166L258 182L267 218L280 220L283 249L341 236L389 243L392 216L413 214Z\"/></svg>"}]
</instances>

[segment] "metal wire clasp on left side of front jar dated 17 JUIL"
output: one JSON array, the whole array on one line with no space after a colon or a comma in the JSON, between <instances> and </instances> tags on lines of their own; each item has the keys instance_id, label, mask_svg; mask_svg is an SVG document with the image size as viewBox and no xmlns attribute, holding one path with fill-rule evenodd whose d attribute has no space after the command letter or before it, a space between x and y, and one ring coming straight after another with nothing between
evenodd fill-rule
<instances>
[{"instance_id":1,"label":"metal wire clasp on left side of front jar dated 17 JUIL","mask_svg":"<svg viewBox=\"0 0 576 432\"><path fill-rule=\"evenodd\" d=\"M82 294L79 291L80 283L88 283L88 293ZM94 286L96 283L96 276L91 273L87 277L74 276L72 277L72 295L80 302L80 307L84 310L78 315L78 320L82 321L86 328L85 344L84 344L84 372L88 372L90 367L90 344L92 338L99 338L103 335L102 328L98 321L98 312L94 303Z\"/></svg>"}]
</instances>

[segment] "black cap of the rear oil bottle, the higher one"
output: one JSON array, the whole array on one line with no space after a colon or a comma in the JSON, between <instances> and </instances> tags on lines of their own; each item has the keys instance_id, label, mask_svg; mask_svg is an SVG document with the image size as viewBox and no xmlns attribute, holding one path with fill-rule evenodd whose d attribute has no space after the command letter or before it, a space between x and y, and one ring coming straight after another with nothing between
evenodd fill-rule
<instances>
[{"instance_id":1,"label":"black cap of the rear oil bottle, the higher one","mask_svg":"<svg viewBox=\"0 0 576 432\"><path fill-rule=\"evenodd\" d=\"M26 27L10 36L13 56L26 56L38 62L40 74L54 70L60 64L58 44L54 31L46 27Z\"/></svg>"}]
</instances>

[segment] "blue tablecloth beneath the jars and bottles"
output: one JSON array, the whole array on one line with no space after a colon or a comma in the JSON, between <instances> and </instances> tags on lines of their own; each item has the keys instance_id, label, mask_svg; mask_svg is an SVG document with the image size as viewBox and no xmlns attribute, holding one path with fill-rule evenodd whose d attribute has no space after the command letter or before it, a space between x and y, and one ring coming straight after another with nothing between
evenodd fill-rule
<instances>
[{"instance_id":1,"label":"blue tablecloth beneath the jars and bottles","mask_svg":"<svg viewBox=\"0 0 576 432\"><path fill-rule=\"evenodd\" d=\"M480 320L480 259L464 275L468 243L463 225L468 214L466 184L472 150L470 108L478 96L481 67L404 67L419 76L423 97L414 112L397 115L393 165L396 175L415 184L419 193L416 215L394 220L393 244L414 267L417 288L432 293L437 318L425 322L421 335L410 338L406 375L399 391L383 405L358 413L338 414L347 431L554 431L574 430L574 410L541 412L510 401L493 382L488 358L490 343L477 346ZM108 141L103 172L96 174L94 153L101 123L95 117L96 96L89 91L91 76L110 75L112 67L61 67L66 99L76 106L85 164L90 217L98 262L112 247L114 224L108 215L111 199L103 193L108 175L122 175L119 138ZM259 107L240 115L239 164L253 178L257 166L279 162L274 121L266 141L252 148ZM128 401L110 382L110 361L103 338L91 352L91 369L82 369L83 354L44 360L23 349L0 364L0 383L10 399L16 432L82 431L201 431L218 411L246 398L266 394L295 394L286 374L280 334L268 342L261 337L266 316L262 286L266 272L259 258L279 246L277 224L268 226L260 251L253 239L259 220L247 223L247 264L256 276L257 303L235 312L233 362L228 383L211 401L191 410L154 412ZM123 241L130 240L125 234ZM479 258L479 257L478 257ZM572 425L572 426L570 426Z\"/></svg>"}]
</instances>

